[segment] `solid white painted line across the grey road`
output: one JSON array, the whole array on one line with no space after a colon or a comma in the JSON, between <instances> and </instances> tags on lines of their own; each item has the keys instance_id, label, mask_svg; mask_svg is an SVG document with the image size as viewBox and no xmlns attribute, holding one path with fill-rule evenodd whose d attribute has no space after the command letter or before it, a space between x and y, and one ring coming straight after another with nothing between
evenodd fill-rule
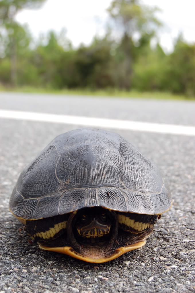
<instances>
[{"instance_id":1,"label":"solid white painted line across the grey road","mask_svg":"<svg viewBox=\"0 0 195 293\"><path fill-rule=\"evenodd\" d=\"M11 110L0 110L0 118L195 136L194 126L137 122L130 120L57 115Z\"/></svg>"}]
</instances>

